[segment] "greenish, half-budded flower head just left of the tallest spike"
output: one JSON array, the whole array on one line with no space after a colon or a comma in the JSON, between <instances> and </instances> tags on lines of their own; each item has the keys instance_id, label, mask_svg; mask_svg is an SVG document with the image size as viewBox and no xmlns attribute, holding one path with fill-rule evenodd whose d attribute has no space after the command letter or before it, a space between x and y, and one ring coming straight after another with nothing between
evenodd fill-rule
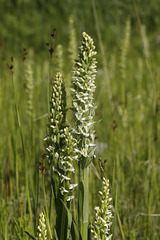
<instances>
[{"instance_id":1,"label":"greenish, half-budded flower head just left of the tallest spike","mask_svg":"<svg viewBox=\"0 0 160 240\"><path fill-rule=\"evenodd\" d=\"M72 194L77 184L72 184L72 174L75 172L73 161L77 154L76 144L69 127L66 125L66 92L62 75L57 73L53 83L50 101L50 123L48 135L45 138L47 158L51 166L52 176L58 176L59 190L66 201L74 198ZM58 193L56 193L56 196ZM62 197L64 199L64 197Z\"/></svg>"}]
</instances>

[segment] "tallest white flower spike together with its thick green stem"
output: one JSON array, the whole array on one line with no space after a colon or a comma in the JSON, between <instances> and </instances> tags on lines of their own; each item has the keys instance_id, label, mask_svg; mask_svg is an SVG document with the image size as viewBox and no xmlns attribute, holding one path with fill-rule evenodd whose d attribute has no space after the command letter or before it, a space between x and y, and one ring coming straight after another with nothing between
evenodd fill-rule
<instances>
[{"instance_id":1,"label":"tallest white flower spike together with its thick green stem","mask_svg":"<svg viewBox=\"0 0 160 240\"><path fill-rule=\"evenodd\" d=\"M82 33L79 59L75 60L72 80L72 105L74 111L74 135L77 140L75 151L79 160L79 229L82 239L88 238L89 215L89 165L94 157L94 92L96 55L93 39Z\"/></svg>"}]
</instances>

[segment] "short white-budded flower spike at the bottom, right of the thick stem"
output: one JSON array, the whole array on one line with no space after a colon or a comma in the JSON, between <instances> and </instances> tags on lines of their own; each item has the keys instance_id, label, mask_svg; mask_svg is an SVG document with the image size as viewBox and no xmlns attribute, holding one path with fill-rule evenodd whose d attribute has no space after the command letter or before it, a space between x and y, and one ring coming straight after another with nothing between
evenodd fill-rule
<instances>
[{"instance_id":1,"label":"short white-budded flower spike at the bottom, right of the thick stem","mask_svg":"<svg viewBox=\"0 0 160 240\"><path fill-rule=\"evenodd\" d=\"M97 240L109 240L112 238L110 227L112 225L112 205L109 196L109 180L103 177L103 190L99 191L101 198L101 206L95 207L95 222L92 225L91 232L93 238Z\"/></svg>"}]
</instances>

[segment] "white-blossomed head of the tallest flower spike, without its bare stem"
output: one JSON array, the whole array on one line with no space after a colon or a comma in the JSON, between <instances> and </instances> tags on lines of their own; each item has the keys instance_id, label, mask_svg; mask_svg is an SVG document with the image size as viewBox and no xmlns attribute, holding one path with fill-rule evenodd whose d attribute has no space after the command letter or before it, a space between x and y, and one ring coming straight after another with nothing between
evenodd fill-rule
<instances>
[{"instance_id":1,"label":"white-blossomed head of the tallest flower spike, without its bare stem","mask_svg":"<svg viewBox=\"0 0 160 240\"><path fill-rule=\"evenodd\" d=\"M75 60L71 91L75 113L74 133L78 141L75 151L85 166L89 165L95 151L93 126L95 104L93 100L96 88L96 59L94 57L96 54L93 39L83 32L79 60Z\"/></svg>"}]
</instances>

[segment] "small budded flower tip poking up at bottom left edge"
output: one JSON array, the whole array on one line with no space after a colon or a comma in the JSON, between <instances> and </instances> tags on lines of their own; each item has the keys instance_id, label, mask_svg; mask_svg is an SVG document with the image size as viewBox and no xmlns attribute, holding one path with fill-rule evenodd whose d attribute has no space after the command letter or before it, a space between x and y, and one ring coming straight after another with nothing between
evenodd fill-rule
<instances>
[{"instance_id":1,"label":"small budded flower tip poking up at bottom left edge","mask_svg":"<svg viewBox=\"0 0 160 240\"><path fill-rule=\"evenodd\" d=\"M43 212L39 215L38 240L47 240L47 228Z\"/></svg>"}]
</instances>

